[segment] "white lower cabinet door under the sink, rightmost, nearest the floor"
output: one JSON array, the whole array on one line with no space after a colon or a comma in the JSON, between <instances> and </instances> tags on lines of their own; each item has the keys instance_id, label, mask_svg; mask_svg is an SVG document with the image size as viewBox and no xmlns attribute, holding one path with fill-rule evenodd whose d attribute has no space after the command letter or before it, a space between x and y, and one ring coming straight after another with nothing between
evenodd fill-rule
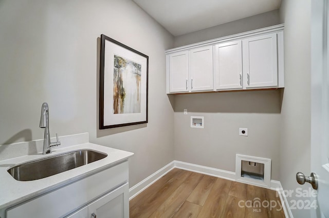
<instances>
[{"instance_id":1,"label":"white lower cabinet door under the sink, rightmost, nearest the floor","mask_svg":"<svg viewBox=\"0 0 329 218\"><path fill-rule=\"evenodd\" d=\"M125 183L88 205L88 217L129 218L128 183Z\"/></svg>"}]
</instances>

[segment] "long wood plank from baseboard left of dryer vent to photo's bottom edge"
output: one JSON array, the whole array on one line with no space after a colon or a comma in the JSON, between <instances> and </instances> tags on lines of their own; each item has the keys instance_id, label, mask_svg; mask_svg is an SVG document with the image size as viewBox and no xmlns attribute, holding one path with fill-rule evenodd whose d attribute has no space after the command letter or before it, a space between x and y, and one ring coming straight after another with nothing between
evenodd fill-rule
<instances>
[{"instance_id":1,"label":"long wood plank from baseboard left of dryer vent to photo's bottom edge","mask_svg":"<svg viewBox=\"0 0 329 218\"><path fill-rule=\"evenodd\" d=\"M231 181L217 178L198 218L221 217Z\"/></svg>"}]
</instances>

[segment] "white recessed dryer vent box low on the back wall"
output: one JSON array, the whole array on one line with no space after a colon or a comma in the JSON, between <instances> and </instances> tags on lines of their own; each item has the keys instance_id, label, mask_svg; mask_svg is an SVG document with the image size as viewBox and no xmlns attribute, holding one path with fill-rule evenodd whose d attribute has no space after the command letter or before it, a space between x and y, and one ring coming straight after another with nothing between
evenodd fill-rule
<instances>
[{"instance_id":1,"label":"white recessed dryer vent box low on the back wall","mask_svg":"<svg viewBox=\"0 0 329 218\"><path fill-rule=\"evenodd\" d=\"M236 154L235 179L238 182L270 188L271 159Z\"/></svg>"}]
</instances>

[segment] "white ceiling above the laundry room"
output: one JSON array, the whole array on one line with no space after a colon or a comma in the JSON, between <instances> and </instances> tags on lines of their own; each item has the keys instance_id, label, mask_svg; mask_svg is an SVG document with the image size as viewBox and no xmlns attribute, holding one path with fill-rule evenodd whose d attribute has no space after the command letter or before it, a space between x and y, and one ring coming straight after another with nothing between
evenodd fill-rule
<instances>
[{"instance_id":1,"label":"white ceiling above the laundry room","mask_svg":"<svg viewBox=\"0 0 329 218\"><path fill-rule=\"evenodd\" d=\"M281 0L133 0L174 36L276 10Z\"/></svg>"}]
</instances>

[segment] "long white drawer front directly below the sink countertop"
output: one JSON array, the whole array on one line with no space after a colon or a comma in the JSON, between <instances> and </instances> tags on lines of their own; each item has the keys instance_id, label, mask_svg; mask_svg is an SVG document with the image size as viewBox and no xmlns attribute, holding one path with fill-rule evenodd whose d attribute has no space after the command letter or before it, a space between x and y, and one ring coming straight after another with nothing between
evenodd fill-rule
<instances>
[{"instance_id":1,"label":"long white drawer front directly below the sink countertop","mask_svg":"<svg viewBox=\"0 0 329 218\"><path fill-rule=\"evenodd\" d=\"M127 181L126 161L9 208L6 210L6 217L63 217Z\"/></svg>"}]
</instances>

